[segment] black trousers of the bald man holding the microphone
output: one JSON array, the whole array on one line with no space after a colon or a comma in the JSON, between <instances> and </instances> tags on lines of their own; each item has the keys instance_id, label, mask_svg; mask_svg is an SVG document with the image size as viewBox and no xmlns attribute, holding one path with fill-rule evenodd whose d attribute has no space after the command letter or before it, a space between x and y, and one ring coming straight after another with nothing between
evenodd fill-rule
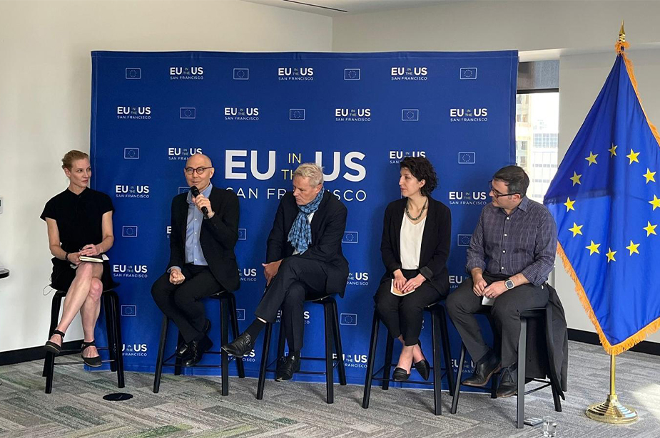
<instances>
[{"instance_id":1,"label":"black trousers of the bald man holding the microphone","mask_svg":"<svg viewBox=\"0 0 660 438\"><path fill-rule=\"evenodd\" d=\"M223 286L215 280L208 266L186 264L181 272L186 276L181 284L170 283L170 274L163 273L151 286L151 296L189 343L204 337L206 316L201 299L218 293Z\"/></svg>"}]
</instances>

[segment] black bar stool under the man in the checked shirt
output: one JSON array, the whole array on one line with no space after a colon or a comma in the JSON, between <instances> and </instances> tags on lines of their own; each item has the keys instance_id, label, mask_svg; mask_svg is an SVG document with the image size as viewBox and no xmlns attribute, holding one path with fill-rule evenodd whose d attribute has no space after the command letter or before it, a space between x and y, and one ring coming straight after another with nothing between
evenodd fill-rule
<instances>
[{"instance_id":1,"label":"black bar stool under the man in the checked shirt","mask_svg":"<svg viewBox=\"0 0 660 438\"><path fill-rule=\"evenodd\" d=\"M479 311L477 313L480 313L482 315L486 315L488 317L489 323L491 325L491 328L493 330L493 338L497 340L496 344L496 351L497 351L497 345L499 345L499 335L497 334L497 331L494 328L494 322L492 319L492 316L490 315L490 309L484 309L483 311ZM542 323L544 325L544 332L546 331L545 328L547 328L547 323L546 323L546 318L549 317L552 320L552 304L548 303L546 307L539 307L539 308L532 308L529 309L528 311L524 311L523 313L520 314L520 336L518 338L518 400L517 400L517 407L516 407L516 427L518 429L522 429L524 426L524 396L527 394L531 394L532 392L536 392L538 390L542 390L545 387L551 387L552 389L552 399L554 400L554 410L557 412L562 412L562 402L559 399L560 394L563 397L563 392L561 390L561 387L559 385L559 377L557 376L556 372L554 372L554 367L552 364L554 364L554 355L552 353L552 350L547 348L547 344L543 345L544 351L547 352L548 356L548 363L551 364L549 366L549 379L529 379L529 382L539 382L542 383L541 386L539 387L534 387L533 389L525 392L524 390L524 385L526 382L526 377L525 377L525 365L527 365L527 321L529 319L537 319L539 320L539 323ZM547 339L548 333L546 333L546 339ZM542 346L542 347L543 347ZM543 348L542 348L543 349ZM463 372L463 361L465 358L465 344L461 345L461 356L460 356L460 361L458 364L458 373L457 373L457 379L456 379L456 388L454 390L454 398L452 400L452 414L456 413L457 407L458 407L458 397L460 395L460 386L461 386L461 375ZM495 375L499 373L496 373L491 377L491 398L497 398L497 378L495 378Z\"/></svg>"}]
</instances>

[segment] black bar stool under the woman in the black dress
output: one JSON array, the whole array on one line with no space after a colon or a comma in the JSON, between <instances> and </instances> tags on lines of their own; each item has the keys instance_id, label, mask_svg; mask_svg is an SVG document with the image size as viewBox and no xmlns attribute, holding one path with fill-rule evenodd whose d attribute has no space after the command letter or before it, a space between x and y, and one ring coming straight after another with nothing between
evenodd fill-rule
<instances>
[{"instance_id":1,"label":"black bar stool under the woman in the black dress","mask_svg":"<svg viewBox=\"0 0 660 438\"><path fill-rule=\"evenodd\" d=\"M96 347L96 350L103 351L108 350L110 358L108 360L103 360L103 363L109 363L110 369L112 372L117 373L117 387L124 387L123 379L123 353L122 348L123 344L121 343L121 324L119 322L120 313L119 313L119 297L114 291L115 288L119 286L118 283L114 283L111 288L103 291L101 295L101 303L103 306L103 311L106 313L106 330L108 336L108 346L107 347ZM52 286L51 286L52 287ZM53 301L51 304L51 326L49 328L49 338L53 335L55 328L57 327L57 322L59 320L59 313L62 304L62 299L66 296L67 291L55 291L53 296ZM64 341L64 340L63 340ZM81 353L81 348L75 348L73 350L61 350L60 355L67 355L72 353ZM79 360L71 362L55 362L55 354L51 352L46 352L46 360L44 360L44 377L46 377L46 394L50 394L53 391L53 377L55 372L55 365L83 365Z\"/></svg>"}]
</instances>

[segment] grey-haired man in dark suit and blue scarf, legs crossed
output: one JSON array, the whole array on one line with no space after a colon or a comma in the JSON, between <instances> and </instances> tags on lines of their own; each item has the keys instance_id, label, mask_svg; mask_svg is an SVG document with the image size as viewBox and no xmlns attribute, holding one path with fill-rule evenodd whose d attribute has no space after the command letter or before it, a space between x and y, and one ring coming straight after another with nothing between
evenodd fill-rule
<instances>
[{"instance_id":1,"label":"grey-haired man in dark suit and blue scarf, legs crossed","mask_svg":"<svg viewBox=\"0 0 660 438\"><path fill-rule=\"evenodd\" d=\"M266 290L254 322L232 343L223 345L230 355L250 353L265 324L274 323L282 309L282 330L289 355L280 360L277 380L289 380L300 370L303 348L303 303L332 293L344 296L348 261L342 254L347 209L323 189L323 169L313 163L293 172L293 192L280 199L263 273Z\"/></svg>"}]
</instances>

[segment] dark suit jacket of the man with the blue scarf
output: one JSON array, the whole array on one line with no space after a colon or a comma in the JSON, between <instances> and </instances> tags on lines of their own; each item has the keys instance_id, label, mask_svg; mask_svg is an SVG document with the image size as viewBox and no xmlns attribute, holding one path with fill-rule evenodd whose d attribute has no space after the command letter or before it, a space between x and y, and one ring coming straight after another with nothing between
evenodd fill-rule
<instances>
[{"instance_id":1,"label":"dark suit jacket of the man with the blue scarf","mask_svg":"<svg viewBox=\"0 0 660 438\"><path fill-rule=\"evenodd\" d=\"M321 261L328 264L328 280L325 290L344 296L348 279L348 261L342 254L342 238L346 229L347 209L335 195L326 191L312 218L312 242L303 254L294 257ZM268 234L266 263L293 256L293 246L288 241L293 221L298 216L298 204L293 192L286 192L278 212L275 213L273 229Z\"/></svg>"}]
</instances>

